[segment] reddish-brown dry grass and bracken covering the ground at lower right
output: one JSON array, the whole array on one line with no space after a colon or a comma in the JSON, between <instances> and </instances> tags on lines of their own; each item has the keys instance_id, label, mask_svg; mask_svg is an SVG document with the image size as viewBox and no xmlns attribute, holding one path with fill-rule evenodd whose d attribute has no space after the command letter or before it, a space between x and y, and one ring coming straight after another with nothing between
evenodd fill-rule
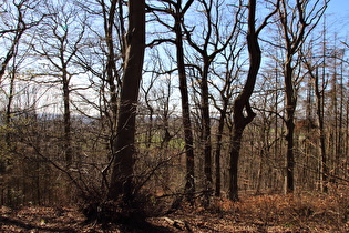
<instances>
[{"instance_id":1,"label":"reddish-brown dry grass and bracken covering the ground at lower right","mask_svg":"<svg viewBox=\"0 0 349 233\"><path fill-rule=\"evenodd\" d=\"M349 188L333 186L328 194L242 196L236 203L215 199L209 210L181 213L194 232L349 232Z\"/></svg>"}]
</instances>

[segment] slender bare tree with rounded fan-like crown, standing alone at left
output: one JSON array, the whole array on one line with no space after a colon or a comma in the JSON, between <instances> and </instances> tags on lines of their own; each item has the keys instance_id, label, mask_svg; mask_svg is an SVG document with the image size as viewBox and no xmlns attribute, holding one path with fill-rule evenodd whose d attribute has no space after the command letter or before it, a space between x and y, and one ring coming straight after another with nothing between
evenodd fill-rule
<instances>
[{"instance_id":1,"label":"slender bare tree with rounded fan-like crown, standing alone at left","mask_svg":"<svg viewBox=\"0 0 349 233\"><path fill-rule=\"evenodd\" d=\"M72 164L72 126L71 126L71 91L72 78L81 70L74 65L74 59L82 47L85 33L85 17L78 13L74 4L57 1L47 2L43 9L49 14L35 34L32 45L39 59L44 59L48 70L42 70L43 77L53 77L52 82L61 83L63 90L64 153L66 166ZM45 65L43 65L45 67ZM50 82L44 80L44 82Z\"/></svg>"}]
</instances>

